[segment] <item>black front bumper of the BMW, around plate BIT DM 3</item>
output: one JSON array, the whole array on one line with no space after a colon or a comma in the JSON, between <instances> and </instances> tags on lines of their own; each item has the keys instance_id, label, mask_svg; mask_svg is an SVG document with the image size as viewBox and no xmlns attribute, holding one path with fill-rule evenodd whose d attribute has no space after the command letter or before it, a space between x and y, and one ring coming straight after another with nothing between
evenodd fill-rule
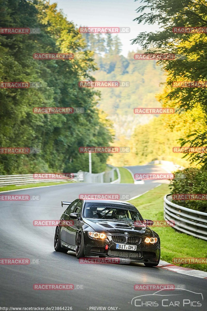
<instances>
[{"instance_id":1,"label":"black front bumper of the BMW, around plate BIT DM 3","mask_svg":"<svg viewBox=\"0 0 207 311\"><path fill-rule=\"evenodd\" d=\"M136 251L118 250L116 244L118 243L112 240L111 235L107 234L106 240L91 239L88 236L88 232L83 232L84 237L84 254L86 257L104 257L104 258L128 258L130 262L142 262L142 263L157 263L160 258L160 239L155 244L146 244L144 242L145 237L141 238L139 244L133 244L137 246ZM108 249L106 249L108 245Z\"/></svg>"}]
</instances>

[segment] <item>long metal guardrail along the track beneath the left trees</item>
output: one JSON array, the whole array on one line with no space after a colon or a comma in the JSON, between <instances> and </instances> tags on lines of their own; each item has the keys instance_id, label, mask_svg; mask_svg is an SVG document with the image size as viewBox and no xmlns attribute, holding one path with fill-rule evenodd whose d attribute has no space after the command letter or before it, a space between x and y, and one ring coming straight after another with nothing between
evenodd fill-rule
<instances>
[{"instance_id":1,"label":"long metal guardrail along the track beneath the left trees","mask_svg":"<svg viewBox=\"0 0 207 311\"><path fill-rule=\"evenodd\" d=\"M33 178L33 174L25 175L0 175L0 187L9 185L24 185L27 183L59 183L65 181L76 181L75 179L61 178L61 179L37 179Z\"/></svg>"}]
</instances>

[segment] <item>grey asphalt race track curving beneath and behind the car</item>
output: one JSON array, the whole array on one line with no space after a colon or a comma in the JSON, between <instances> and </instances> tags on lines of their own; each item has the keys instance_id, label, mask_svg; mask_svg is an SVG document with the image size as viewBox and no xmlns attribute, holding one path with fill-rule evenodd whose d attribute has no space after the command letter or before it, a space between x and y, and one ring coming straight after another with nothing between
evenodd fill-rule
<instances>
[{"instance_id":1,"label":"grey asphalt race track curving beneath and behind the car","mask_svg":"<svg viewBox=\"0 0 207 311\"><path fill-rule=\"evenodd\" d=\"M155 172L155 166L131 167L133 173ZM146 171L147 170L147 171ZM1 209L1 258L29 258L29 265L0 265L0 306L1 307L72 307L82 310L206 310L207 280L187 276L160 268L147 268L144 264L80 264L73 252L54 251L55 227L35 227L33 220L57 220L64 208L61 200L73 201L80 193L125 193L137 196L156 187L159 181L144 184L87 184L73 183L46 188L12 191L8 194L29 194L40 196L40 200L27 202L0 202ZM5 193L6 194L6 193ZM74 290L33 290L36 283L74 284ZM135 284L184 285L184 299L199 296L188 291L202 293L202 306L185 304L183 307L166 307L171 301L165 297L159 307L135 306L131 300L138 295L153 294L154 291L134 290ZM81 285L81 289L79 286ZM175 293L175 292L174 292ZM164 291L162 295L168 295ZM170 291L172 294L172 291ZM197 297L196 296L196 297ZM178 297L178 300L181 295ZM152 298L151 298L152 299ZM168 300L169 299L169 300ZM196 298L195 298L196 299ZM200 299L200 298L199 298ZM152 300L151 300L152 301ZM138 301L136 302L138 305ZM92 307L97 307L97 309ZM98 309L99 307L99 309ZM113 307L113 309L108 309ZM9 310L9 309L8 309Z\"/></svg>"}]
</instances>

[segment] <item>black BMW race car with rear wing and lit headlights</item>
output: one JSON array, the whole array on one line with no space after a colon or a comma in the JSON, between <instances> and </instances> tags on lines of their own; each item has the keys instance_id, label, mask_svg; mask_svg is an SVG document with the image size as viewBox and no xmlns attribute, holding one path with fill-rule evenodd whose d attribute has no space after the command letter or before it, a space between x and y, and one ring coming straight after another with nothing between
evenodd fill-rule
<instances>
[{"instance_id":1,"label":"black BMW race car with rear wing and lit headlights","mask_svg":"<svg viewBox=\"0 0 207 311\"><path fill-rule=\"evenodd\" d=\"M74 251L77 258L128 258L154 267L160 261L160 238L132 204L122 201L83 200L67 206L56 227L57 252Z\"/></svg>"}]
</instances>

